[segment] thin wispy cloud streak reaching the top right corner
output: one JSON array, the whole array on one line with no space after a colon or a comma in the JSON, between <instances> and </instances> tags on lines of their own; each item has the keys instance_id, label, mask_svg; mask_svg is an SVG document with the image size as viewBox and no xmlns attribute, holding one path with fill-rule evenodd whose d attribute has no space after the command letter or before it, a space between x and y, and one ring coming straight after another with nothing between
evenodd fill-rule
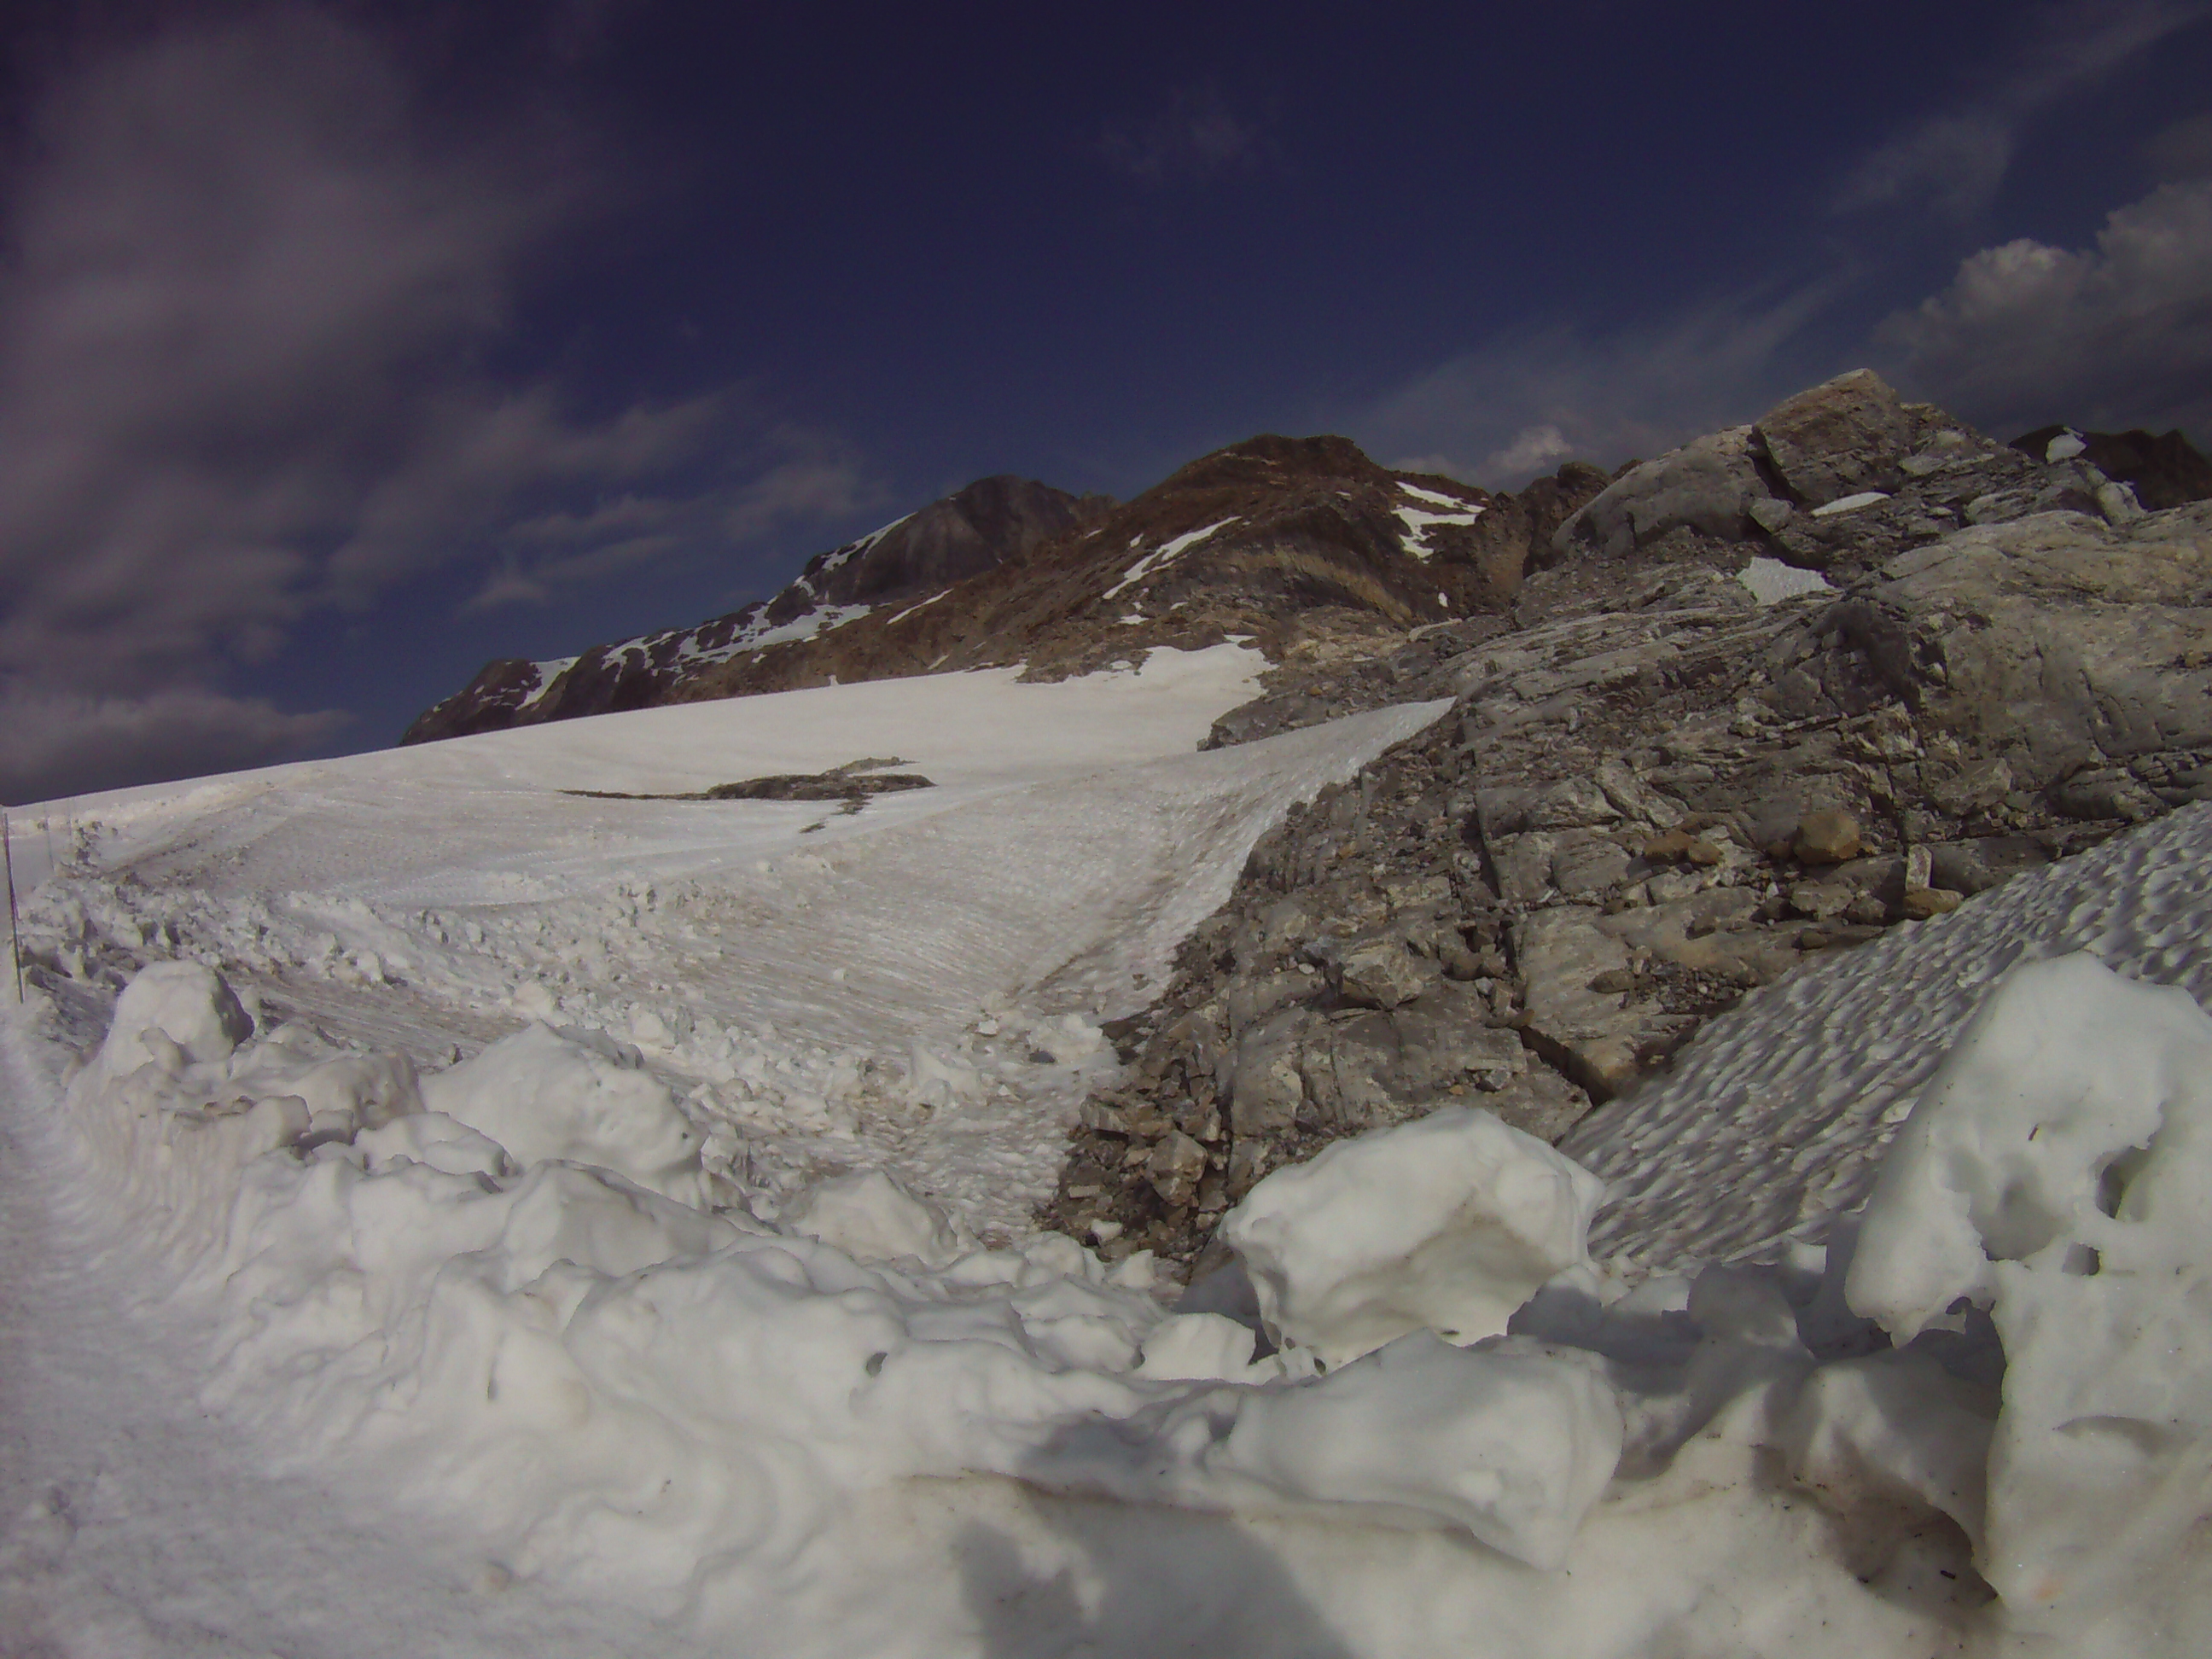
<instances>
[{"instance_id":1,"label":"thin wispy cloud streak reaching the top right corner","mask_svg":"<svg viewBox=\"0 0 2212 1659\"><path fill-rule=\"evenodd\" d=\"M1865 155L1838 212L1933 208L1971 219L1997 195L2022 131L2157 42L2212 13L2203 0L2106 0L2046 9L2011 66L1960 108L1929 115Z\"/></svg>"}]
</instances>

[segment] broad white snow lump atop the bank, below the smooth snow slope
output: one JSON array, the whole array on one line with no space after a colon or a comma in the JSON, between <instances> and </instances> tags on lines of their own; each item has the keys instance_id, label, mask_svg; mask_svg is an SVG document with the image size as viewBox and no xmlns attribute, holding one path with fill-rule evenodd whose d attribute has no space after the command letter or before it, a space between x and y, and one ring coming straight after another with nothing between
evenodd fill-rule
<instances>
[{"instance_id":1,"label":"broad white snow lump atop the bank, below the smooth snow slope","mask_svg":"<svg viewBox=\"0 0 2212 1659\"><path fill-rule=\"evenodd\" d=\"M422 1079L422 1104L504 1146L520 1164L566 1159L624 1175L679 1203L703 1199L699 1135L635 1048L529 1024Z\"/></svg>"}]
</instances>

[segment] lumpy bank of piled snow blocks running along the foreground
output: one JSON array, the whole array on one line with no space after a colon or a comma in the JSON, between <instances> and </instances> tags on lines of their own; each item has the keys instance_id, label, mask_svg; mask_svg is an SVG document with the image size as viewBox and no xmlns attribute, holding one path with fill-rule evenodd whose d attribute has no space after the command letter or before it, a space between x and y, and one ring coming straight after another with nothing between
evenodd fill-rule
<instances>
[{"instance_id":1,"label":"lumpy bank of piled snow blocks running along the foreground","mask_svg":"<svg viewBox=\"0 0 2212 1659\"><path fill-rule=\"evenodd\" d=\"M1228 1232L1285 1338L1265 1358L1230 1321L1170 1314L1141 1259L969 1248L883 1177L825 1183L783 1230L677 1201L575 1157L695 1168L646 1095L637 1139L617 1133L619 1048L544 1026L509 1044L529 1064L409 1099L296 1029L250 1037L212 971L155 964L66 1099L206 1307L206 1400L274 1416L303 1469L465 1517L507 1573L661 1613L703 1579L772 1595L823 1568L860 1495L975 1473L1449 1528L1551 1571L1692 1491L1774 1504L1781 1469L1827 1515L1829 1566L1807 1571L1880 1588L1918 1551L1962 1579L1971 1551L2002 1599L1944 1608L1938 1635L2190 1652L2212 1624L2190 1593L2212 1515L2212 1020L2090 958L1991 991L1851 1263L1630 1290L1582 1254L1595 1177L1447 1110L1254 1188ZM487 1133L524 1097L557 1126L535 1155ZM1513 1334L1484 1334L1542 1272ZM1564 1646L1520 1630L1511 1650L1586 1641L1566 1624Z\"/></svg>"}]
</instances>

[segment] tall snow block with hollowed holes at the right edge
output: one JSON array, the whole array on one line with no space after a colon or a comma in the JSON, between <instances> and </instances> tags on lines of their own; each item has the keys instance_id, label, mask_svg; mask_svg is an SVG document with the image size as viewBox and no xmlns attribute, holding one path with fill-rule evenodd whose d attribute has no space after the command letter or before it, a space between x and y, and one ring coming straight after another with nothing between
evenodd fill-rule
<instances>
[{"instance_id":1,"label":"tall snow block with hollowed holes at the right edge","mask_svg":"<svg viewBox=\"0 0 2212 1659\"><path fill-rule=\"evenodd\" d=\"M2013 969L1889 1152L1845 1281L1898 1340L1993 1310L1982 1573L2095 1606L2212 1513L2212 1020L2088 953Z\"/></svg>"}]
</instances>

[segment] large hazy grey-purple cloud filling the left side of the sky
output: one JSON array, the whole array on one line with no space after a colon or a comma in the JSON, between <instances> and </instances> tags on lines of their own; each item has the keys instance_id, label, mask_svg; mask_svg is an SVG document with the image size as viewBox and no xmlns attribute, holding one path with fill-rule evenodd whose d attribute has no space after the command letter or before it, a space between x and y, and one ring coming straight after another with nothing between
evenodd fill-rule
<instances>
[{"instance_id":1,"label":"large hazy grey-purple cloud filling the left side of the sky","mask_svg":"<svg viewBox=\"0 0 2212 1659\"><path fill-rule=\"evenodd\" d=\"M336 13L88 53L33 100L0 188L0 703L40 710L18 792L71 732L115 776L327 734L226 701L226 677L436 564L507 557L544 588L677 549L586 531L595 502L661 500L708 546L779 522L763 491L832 504L790 491L794 453L737 392L580 414L482 367L599 181L535 117L440 131ZM560 511L577 533L533 571L518 526Z\"/></svg>"}]
</instances>

